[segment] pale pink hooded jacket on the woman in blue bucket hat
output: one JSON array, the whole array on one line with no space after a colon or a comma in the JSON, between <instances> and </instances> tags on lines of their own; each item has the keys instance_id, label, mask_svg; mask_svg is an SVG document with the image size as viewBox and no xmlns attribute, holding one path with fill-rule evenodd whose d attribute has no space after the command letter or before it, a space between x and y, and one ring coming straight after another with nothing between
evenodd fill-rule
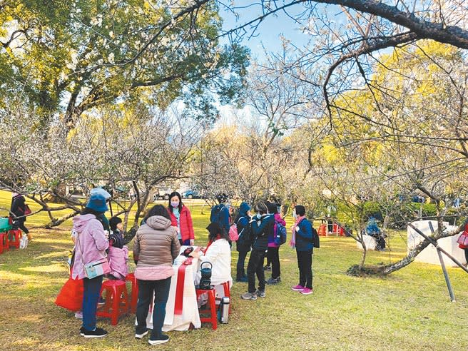
<instances>
[{"instance_id":1,"label":"pale pink hooded jacket on the woman in blue bucket hat","mask_svg":"<svg viewBox=\"0 0 468 351\"><path fill-rule=\"evenodd\" d=\"M75 261L72 278L86 278L83 265L106 258L109 242L104 234L103 225L95 215L77 215L73 218L73 230L77 233ZM104 272L108 273L108 272Z\"/></svg>"}]
</instances>

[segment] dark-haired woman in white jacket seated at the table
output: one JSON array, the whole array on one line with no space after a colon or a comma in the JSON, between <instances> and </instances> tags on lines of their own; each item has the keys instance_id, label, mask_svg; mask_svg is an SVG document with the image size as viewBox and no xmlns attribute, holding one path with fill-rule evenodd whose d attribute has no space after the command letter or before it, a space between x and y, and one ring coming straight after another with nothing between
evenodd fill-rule
<instances>
[{"instance_id":1,"label":"dark-haired woman in white jacket seated at the table","mask_svg":"<svg viewBox=\"0 0 468 351\"><path fill-rule=\"evenodd\" d=\"M211 285L215 285L216 291L223 295L223 287L220 284L229 282L229 287L233 285L233 278L230 276L230 240L228 233L222 230L218 223L210 223L206 228L208 234L208 245L203 250L195 250L190 253L193 257L200 259L200 264L208 261L213 265L211 270ZM200 283L201 273L198 270L195 284Z\"/></svg>"}]
</instances>

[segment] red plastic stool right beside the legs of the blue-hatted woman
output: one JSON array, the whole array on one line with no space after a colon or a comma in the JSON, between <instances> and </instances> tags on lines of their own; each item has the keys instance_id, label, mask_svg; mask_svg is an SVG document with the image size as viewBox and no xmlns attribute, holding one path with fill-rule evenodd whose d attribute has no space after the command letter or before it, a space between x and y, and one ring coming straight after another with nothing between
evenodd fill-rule
<instances>
[{"instance_id":1,"label":"red plastic stool right beside the legs of the blue-hatted woman","mask_svg":"<svg viewBox=\"0 0 468 351\"><path fill-rule=\"evenodd\" d=\"M103 310L98 311L96 315L111 318L111 325L117 325L118 317L128 311L127 285L122 280L106 280L102 285L101 295L104 290L106 290L106 303Z\"/></svg>"}]
</instances>

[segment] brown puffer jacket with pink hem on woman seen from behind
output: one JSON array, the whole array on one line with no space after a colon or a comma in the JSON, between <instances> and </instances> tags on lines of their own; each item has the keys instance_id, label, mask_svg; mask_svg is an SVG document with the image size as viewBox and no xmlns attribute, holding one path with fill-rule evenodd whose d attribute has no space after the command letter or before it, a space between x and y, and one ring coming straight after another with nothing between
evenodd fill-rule
<instances>
[{"instance_id":1,"label":"brown puffer jacket with pink hem on woman seen from behind","mask_svg":"<svg viewBox=\"0 0 468 351\"><path fill-rule=\"evenodd\" d=\"M170 277L179 251L177 229L171 226L171 220L161 215L148 218L138 228L133 243L133 259L137 261L136 278L161 280Z\"/></svg>"}]
</instances>

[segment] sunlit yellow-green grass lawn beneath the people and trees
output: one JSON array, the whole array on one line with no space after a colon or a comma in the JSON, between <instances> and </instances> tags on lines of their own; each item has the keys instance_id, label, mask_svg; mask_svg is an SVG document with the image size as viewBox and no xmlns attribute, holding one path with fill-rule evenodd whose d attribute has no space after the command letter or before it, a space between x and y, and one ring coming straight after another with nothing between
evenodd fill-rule
<instances>
[{"instance_id":1,"label":"sunlit yellow-green grass lawn beneath the people and trees","mask_svg":"<svg viewBox=\"0 0 468 351\"><path fill-rule=\"evenodd\" d=\"M0 194L0 206L7 203ZM192 208L195 242L205 245L208 210ZM45 218L46 219L46 218ZM37 216L27 225L44 223ZM290 223L288 223L290 224ZM70 225L33 229L26 250L0 255L0 350L467 350L468 276L449 268L457 302L449 300L442 270L413 263L387 278L356 278L345 274L359 263L360 251L351 238L321 238L313 258L314 293L290 290L297 284L295 251L280 249L280 285L267 286L267 296L240 300L247 284L233 286L229 324L211 330L169 332L170 342L148 345L133 337L134 315L115 327L108 319L98 325L108 337L86 340L81 321L54 305L68 278L66 265ZM388 263L405 255L405 233L392 233L392 252L371 252L367 263ZM237 252L233 251L233 275ZM131 270L134 269L133 263ZM269 275L267 275L269 278Z\"/></svg>"}]
</instances>

